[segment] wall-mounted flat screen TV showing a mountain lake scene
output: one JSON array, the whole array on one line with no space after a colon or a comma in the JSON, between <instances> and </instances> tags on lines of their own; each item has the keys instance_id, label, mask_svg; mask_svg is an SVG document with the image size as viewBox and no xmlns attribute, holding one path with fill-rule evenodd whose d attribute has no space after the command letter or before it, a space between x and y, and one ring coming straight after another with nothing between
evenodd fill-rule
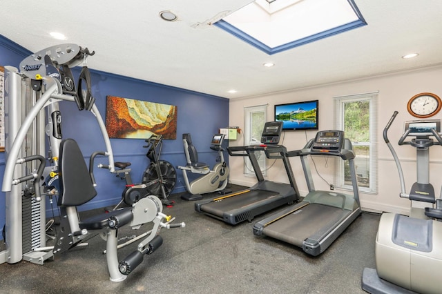
<instances>
[{"instance_id":1,"label":"wall-mounted flat screen TV showing a mountain lake scene","mask_svg":"<svg viewBox=\"0 0 442 294\"><path fill-rule=\"evenodd\" d=\"M275 121L282 130L318 130L318 100L275 105Z\"/></svg>"}]
</instances>

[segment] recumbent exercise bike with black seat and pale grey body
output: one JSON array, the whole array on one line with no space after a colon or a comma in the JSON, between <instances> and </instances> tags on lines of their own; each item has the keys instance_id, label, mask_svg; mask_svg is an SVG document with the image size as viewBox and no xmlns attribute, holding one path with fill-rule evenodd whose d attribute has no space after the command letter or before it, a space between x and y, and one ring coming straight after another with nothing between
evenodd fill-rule
<instances>
[{"instance_id":1,"label":"recumbent exercise bike with black seat and pale grey body","mask_svg":"<svg viewBox=\"0 0 442 294\"><path fill-rule=\"evenodd\" d=\"M219 192L220 194L231 193L230 190L224 190L227 186L229 177L229 166L224 161L224 148L222 142L224 141L224 134L215 134L212 137L212 150L218 152L218 164L213 166L213 170L209 165L198 161L198 152L192 144L191 134L182 134L182 141L184 144L184 155L186 155L186 166L177 166L182 170L184 183L189 194L181 195L181 198L187 201L202 199L201 194ZM189 182L187 172L197 175L202 175L192 182Z\"/></svg>"}]
</instances>

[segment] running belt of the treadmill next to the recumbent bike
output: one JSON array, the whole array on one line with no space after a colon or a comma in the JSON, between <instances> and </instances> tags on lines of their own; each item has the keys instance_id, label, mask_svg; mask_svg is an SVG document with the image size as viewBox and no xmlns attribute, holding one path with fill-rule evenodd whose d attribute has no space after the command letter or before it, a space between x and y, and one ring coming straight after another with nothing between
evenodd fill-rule
<instances>
[{"instance_id":1,"label":"running belt of the treadmill next to the recumbent bike","mask_svg":"<svg viewBox=\"0 0 442 294\"><path fill-rule=\"evenodd\" d=\"M218 217L223 217L229 210L246 208L251 204L256 204L262 200L278 197L276 192L266 190L251 190L250 192L239 194L233 197L227 197L217 202L209 202L201 206L201 210L211 213Z\"/></svg>"}]
</instances>

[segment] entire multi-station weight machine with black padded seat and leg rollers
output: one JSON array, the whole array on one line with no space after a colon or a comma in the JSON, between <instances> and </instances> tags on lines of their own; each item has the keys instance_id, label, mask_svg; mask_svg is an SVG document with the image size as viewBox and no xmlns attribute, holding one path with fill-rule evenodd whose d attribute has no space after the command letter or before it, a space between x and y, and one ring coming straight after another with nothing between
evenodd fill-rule
<instances>
[{"instance_id":1,"label":"entire multi-station weight machine with black padded seat and leg rollers","mask_svg":"<svg viewBox=\"0 0 442 294\"><path fill-rule=\"evenodd\" d=\"M5 119L8 124L2 190L6 192L6 250L0 252L0 263L15 264L26 260L43 264L56 254L85 245L89 231L98 231L106 240L109 279L120 282L142 263L144 255L161 246L160 228L184 227L185 224L169 224L171 216L162 213L162 203L153 195L131 207L93 215L80 222L77 206L93 199L97 192L77 143L73 139L62 138L58 103L73 101L79 110L87 110L94 115L106 146L106 166L111 173L115 172L111 142L90 91L86 57L93 53L75 44L64 44L46 48L24 59L20 63L21 72L12 66L5 67L5 101L8 105ZM76 89L69 68L81 62L84 66ZM45 157L45 135L48 136L48 157ZM50 161L49 166L46 166L47 160ZM44 189L40 185L41 179L46 179ZM57 196L60 208L61 229L54 246L46 246L46 195L51 201ZM153 228L143 235L144 239L136 250L119 261L117 230L122 226L139 229L150 222ZM28 224L32 228L25 228ZM37 241L28 246L26 239Z\"/></svg>"}]
</instances>

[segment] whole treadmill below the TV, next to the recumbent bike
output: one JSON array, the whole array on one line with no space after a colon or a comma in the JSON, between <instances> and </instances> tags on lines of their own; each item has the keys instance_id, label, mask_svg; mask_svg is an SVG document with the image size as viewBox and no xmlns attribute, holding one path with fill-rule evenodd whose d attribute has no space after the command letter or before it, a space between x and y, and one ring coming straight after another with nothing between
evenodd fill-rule
<instances>
[{"instance_id":1,"label":"whole treadmill below the TV, next to the recumbent bike","mask_svg":"<svg viewBox=\"0 0 442 294\"><path fill-rule=\"evenodd\" d=\"M298 187L287 157L287 149L285 146L278 145L281 131L281 121L269 121L265 123L261 145L227 147L231 156L249 157L258 183L245 190L195 202L195 210L227 224L235 225L246 220L251 222L256 215L285 204L298 202ZM256 158L258 152L264 152L269 159L282 159L290 184L265 180Z\"/></svg>"}]
</instances>

